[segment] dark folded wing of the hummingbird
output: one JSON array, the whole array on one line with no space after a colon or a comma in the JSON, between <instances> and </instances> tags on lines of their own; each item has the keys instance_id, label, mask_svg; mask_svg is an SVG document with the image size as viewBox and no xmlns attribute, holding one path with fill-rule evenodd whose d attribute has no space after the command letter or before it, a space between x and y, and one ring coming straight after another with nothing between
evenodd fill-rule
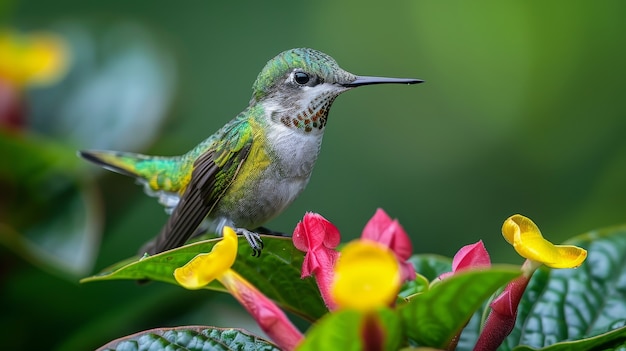
<instances>
[{"instance_id":1,"label":"dark folded wing of the hummingbird","mask_svg":"<svg viewBox=\"0 0 626 351\"><path fill-rule=\"evenodd\" d=\"M249 133L237 140L219 143L194 162L191 180L167 223L143 254L157 254L183 245L196 231L228 190L245 162L253 138Z\"/></svg>"}]
</instances>

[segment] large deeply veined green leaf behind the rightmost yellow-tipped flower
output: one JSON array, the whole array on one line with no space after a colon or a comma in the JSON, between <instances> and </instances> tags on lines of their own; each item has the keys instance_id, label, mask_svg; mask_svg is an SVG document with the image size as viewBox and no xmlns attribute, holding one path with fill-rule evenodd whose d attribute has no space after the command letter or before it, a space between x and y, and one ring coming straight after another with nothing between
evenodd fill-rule
<instances>
[{"instance_id":1,"label":"large deeply veined green leaf behind the rightmost yellow-tipped flower","mask_svg":"<svg viewBox=\"0 0 626 351\"><path fill-rule=\"evenodd\" d=\"M535 272L520 302L515 328L499 350L517 345L557 347L565 340L612 349L614 338L626 338L623 328L610 332L626 324L626 226L593 231L568 244L587 249L587 260L577 269Z\"/></svg>"}]
</instances>

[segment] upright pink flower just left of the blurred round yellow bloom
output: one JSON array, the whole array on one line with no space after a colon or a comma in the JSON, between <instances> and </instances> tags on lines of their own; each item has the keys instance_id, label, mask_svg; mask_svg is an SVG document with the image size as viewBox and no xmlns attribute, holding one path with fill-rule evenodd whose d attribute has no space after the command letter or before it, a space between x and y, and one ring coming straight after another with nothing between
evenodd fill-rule
<instances>
[{"instance_id":1,"label":"upright pink flower just left of the blurred round yellow bloom","mask_svg":"<svg viewBox=\"0 0 626 351\"><path fill-rule=\"evenodd\" d=\"M330 294L341 236L339 229L317 213L307 212L293 232L294 246L303 252L302 278L313 275L329 309L336 307Z\"/></svg>"}]
</instances>

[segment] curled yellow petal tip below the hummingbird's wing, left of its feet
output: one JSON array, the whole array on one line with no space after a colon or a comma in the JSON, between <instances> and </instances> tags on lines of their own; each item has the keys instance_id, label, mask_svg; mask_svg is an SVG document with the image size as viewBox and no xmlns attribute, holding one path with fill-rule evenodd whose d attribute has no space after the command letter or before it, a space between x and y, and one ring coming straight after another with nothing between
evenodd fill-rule
<instances>
[{"instance_id":1,"label":"curled yellow petal tip below the hummingbird's wing, left of its feet","mask_svg":"<svg viewBox=\"0 0 626 351\"><path fill-rule=\"evenodd\" d=\"M222 240L211 252L199 254L174 270L178 284L187 289L200 289L230 269L237 257L237 234L230 227L224 227L223 233Z\"/></svg>"}]
</instances>

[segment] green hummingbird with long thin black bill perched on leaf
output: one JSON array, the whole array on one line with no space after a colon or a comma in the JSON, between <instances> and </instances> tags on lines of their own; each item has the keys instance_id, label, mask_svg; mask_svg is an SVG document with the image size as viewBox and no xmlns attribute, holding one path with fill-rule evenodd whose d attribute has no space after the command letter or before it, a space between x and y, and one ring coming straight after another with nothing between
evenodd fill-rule
<instances>
[{"instance_id":1,"label":"green hummingbird with long thin black bill perched on leaf","mask_svg":"<svg viewBox=\"0 0 626 351\"><path fill-rule=\"evenodd\" d=\"M291 49L261 70L249 106L186 154L88 150L79 155L136 178L170 214L140 255L230 226L258 256L263 248L258 228L283 212L309 182L335 98L363 85L422 82L356 76L320 51Z\"/></svg>"}]
</instances>

